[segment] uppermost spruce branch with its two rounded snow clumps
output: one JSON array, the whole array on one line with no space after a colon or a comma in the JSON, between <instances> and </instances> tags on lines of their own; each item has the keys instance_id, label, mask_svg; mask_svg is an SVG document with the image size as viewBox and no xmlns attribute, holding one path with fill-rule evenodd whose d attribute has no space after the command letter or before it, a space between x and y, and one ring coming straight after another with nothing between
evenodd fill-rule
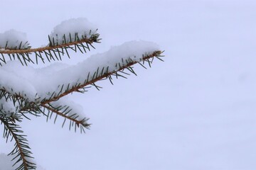
<instances>
[{"instance_id":1,"label":"uppermost spruce branch with its two rounded snow clumps","mask_svg":"<svg viewBox=\"0 0 256 170\"><path fill-rule=\"evenodd\" d=\"M90 51L91 47L95 48L92 43L100 42L99 36L97 28L85 18L60 23L48 35L46 47L31 48L24 33L10 30L0 34L0 65L6 64L7 60L18 60L23 65L62 60L64 55L70 57L70 50L84 53Z\"/></svg>"}]
</instances>

